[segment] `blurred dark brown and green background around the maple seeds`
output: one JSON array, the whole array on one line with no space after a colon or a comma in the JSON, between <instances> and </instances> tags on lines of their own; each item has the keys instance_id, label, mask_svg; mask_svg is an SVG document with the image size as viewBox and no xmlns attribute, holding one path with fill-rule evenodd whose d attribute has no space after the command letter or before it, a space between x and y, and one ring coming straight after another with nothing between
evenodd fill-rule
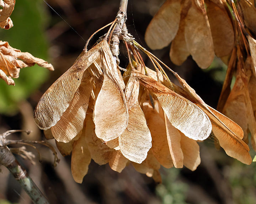
<instances>
[{"instance_id":1,"label":"blurred dark brown and green background around the maple seeds","mask_svg":"<svg viewBox=\"0 0 256 204\"><path fill-rule=\"evenodd\" d=\"M23 68L16 86L0 81L0 130L32 129L31 140L43 139L33 121L33 109L44 91L63 74L82 51L85 40L97 29L113 21L119 0L47 0L55 11L78 32L74 32L43 0L16 1L11 15L14 27L0 30L2 41L22 52L52 63L55 71L34 66ZM137 41L144 42L145 29L164 0L129 0L127 28ZM106 30L91 40L92 46ZM122 46L121 46L122 51ZM206 69L200 69L188 57L182 66L175 66L169 58L169 47L153 51L154 55L178 72L203 100L216 108L225 78L226 65L218 58ZM120 55L121 67L126 67L126 55ZM152 67L146 61L149 67ZM177 83L170 75L170 79ZM25 138L14 135L13 138ZM53 145L54 142L50 141ZM136 172L131 165L122 173L112 171L108 165L92 162L89 172L80 185L73 181L70 157L63 158L53 168L53 155L47 148L38 147L42 163L31 165L17 159L28 170L50 203L149 203L149 204L254 204L256 200L256 165L247 166L229 158L222 149L217 150L212 138L200 143L201 165L194 172L183 169L161 169L162 184ZM33 151L31 149L31 151ZM35 152L34 152L35 153ZM36 153L35 153L36 154ZM255 153L252 152L251 155ZM38 158L37 158L38 159ZM37 160L38 161L38 160ZM9 172L0 173L0 204L30 203L30 198L20 188Z\"/></svg>"}]
</instances>

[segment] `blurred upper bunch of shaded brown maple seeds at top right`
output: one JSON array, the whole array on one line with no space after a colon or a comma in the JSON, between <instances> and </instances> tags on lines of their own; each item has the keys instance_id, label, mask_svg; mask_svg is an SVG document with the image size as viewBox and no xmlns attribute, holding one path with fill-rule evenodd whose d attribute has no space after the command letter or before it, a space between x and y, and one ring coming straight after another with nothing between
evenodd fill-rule
<instances>
[{"instance_id":1,"label":"blurred upper bunch of shaded brown maple seeds at top right","mask_svg":"<svg viewBox=\"0 0 256 204\"><path fill-rule=\"evenodd\" d=\"M145 41L151 49L172 42L170 58L177 65L191 55L199 67L209 67L214 53L229 56L235 44L226 0L166 0L146 29Z\"/></svg>"}]
</instances>

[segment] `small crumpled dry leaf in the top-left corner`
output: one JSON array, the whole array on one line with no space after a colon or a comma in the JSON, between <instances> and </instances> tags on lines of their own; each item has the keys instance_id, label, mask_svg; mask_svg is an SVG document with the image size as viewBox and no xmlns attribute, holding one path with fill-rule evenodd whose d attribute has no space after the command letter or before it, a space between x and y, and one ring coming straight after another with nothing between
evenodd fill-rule
<instances>
[{"instance_id":1,"label":"small crumpled dry leaf in the top-left corner","mask_svg":"<svg viewBox=\"0 0 256 204\"><path fill-rule=\"evenodd\" d=\"M6 30L13 27L12 20L10 15L14 10L15 0L0 0L0 6L2 9L0 10L0 27Z\"/></svg>"}]
</instances>

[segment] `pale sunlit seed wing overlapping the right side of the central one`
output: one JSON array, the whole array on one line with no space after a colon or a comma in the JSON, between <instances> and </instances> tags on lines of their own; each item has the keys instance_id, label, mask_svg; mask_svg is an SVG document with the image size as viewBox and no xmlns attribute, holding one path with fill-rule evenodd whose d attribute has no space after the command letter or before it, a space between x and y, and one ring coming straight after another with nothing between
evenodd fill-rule
<instances>
[{"instance_id":1,"label":"pale sunlit seed wing overlapping the right side of the central one","mask_svg":"<svg viewBox=\"0 0 256 204\"><path fill-rule=\"evenodd\" d=\"M139 106L138 96L139 81L132 72L125 91L129 113L128 125L118 140L124 157L132 162L142 163L152 145L150 131Z\"/></svg>"}]
</instances>

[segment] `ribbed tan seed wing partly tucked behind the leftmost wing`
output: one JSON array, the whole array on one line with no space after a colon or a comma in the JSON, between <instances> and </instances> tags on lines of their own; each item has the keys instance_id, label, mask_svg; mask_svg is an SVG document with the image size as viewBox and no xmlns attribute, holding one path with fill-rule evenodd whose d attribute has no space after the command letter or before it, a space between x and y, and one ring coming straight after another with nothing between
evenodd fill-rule
<instances>
[{"instance_id":1,"label":"ribbed tan seed wing partly tucked behind the leftmost wing","mask_svg":"<svg viewBox=\"0 0 256 204\"><path fill-rule=\"evenodd\" d=\"M85 70L81 84L76 90L69 107L56 125L51 128L52 134L58 142L69 142L82 130L92 91L92 82L90 73Z\"/></svg>"}]
</instances>

